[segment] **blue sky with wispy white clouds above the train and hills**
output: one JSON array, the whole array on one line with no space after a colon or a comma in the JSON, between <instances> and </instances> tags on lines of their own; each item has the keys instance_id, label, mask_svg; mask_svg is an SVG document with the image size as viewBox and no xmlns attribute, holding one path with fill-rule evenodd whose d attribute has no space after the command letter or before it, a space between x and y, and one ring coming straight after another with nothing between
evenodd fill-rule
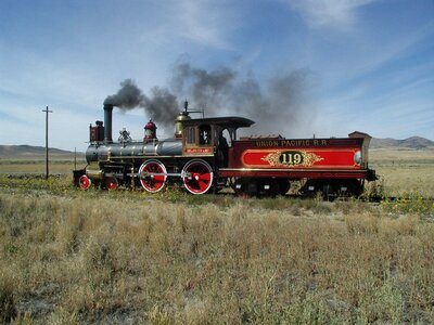
<instances>
[{"instance_id":1,"label":"blue sky with wispy white clouds above the train and hills","mask_svg":"<svg viewBox=\"0 0 434 325\"><path fill-rule=\"evenodd\" d=\"M84 151L122 81L170 89L180 62L235 72L231 86L254 80L267 99L301 75L280 110L243 110L253 133L434 140L433 0L1 0L0 143L44 145L49 106L50 146ZM225 99L205 112L239 114ZM115 109L114 139L141 139L149 118Z\"/></svg>"}]
</instances>

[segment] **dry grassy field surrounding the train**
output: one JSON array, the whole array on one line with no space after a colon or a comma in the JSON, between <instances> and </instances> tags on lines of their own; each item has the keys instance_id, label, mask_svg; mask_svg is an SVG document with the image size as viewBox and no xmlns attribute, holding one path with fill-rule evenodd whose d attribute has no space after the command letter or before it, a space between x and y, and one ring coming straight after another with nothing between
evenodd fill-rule
<instances>
[{"instance_id":1,"label":"dry grassy field surrounding the train","mask_svg":"<svg viewBox=\"0 0 434 325\"><path fill-rule=\"evenodd\" d=\"M371 152L381 204L0 174L0 322L432 324L431 153Z\"/></svg>"}]
</instances>

